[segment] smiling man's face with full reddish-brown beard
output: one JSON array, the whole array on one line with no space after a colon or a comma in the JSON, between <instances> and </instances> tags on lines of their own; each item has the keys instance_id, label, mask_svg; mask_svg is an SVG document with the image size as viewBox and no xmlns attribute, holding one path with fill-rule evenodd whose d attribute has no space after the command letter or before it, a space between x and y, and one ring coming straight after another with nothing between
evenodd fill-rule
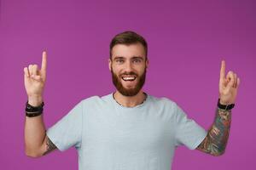
<instances>
[{"instance_id":1,"label":"smiling man's face with full reddish-brown beard","mask_svg":"<svg viewBox=\"0 0 256 170\"><path fill-rule=\"evenodd\" d=\"M113 46L112 59L108 61L113 84L120 94L134 96L143 88L148 59L141 43Z\"/></svg>"}]
</instances>

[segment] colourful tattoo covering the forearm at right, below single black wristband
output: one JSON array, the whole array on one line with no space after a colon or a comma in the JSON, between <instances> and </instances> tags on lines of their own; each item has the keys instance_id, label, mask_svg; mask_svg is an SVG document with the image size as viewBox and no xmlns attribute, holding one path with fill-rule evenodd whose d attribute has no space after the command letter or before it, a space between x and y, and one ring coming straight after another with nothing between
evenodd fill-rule
<instances>
[{"instance_id":1,"label":"colourful tattoo covering the forearm at right, below single black wristband","mask_svg":"<svg viewBox=\"0 0 256 170\"><path fill-rule=\"evenodd\" d=\"M197 150L201 150L212 156L224 154L229 139L230 124L231 111L224 111L217 108L215 121L208 130L207 137L197 147Z\"/></svg>"}]
</instances>

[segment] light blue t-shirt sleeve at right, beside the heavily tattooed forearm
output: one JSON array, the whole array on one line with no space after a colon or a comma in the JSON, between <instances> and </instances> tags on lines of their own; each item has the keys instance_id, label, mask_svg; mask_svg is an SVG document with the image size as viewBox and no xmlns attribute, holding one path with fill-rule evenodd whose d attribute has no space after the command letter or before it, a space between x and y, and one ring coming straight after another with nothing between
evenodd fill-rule
<instances>
[{"instance_id":1,"label":"light blue t-shirt sleeve at right, beside the heavily tattooed forearm","mask_svg":"<svg viewBox=\"0 0 256 170\"><path fill-rule=\"evenodd\" d=\"M176 145L185 145L189 150L195 150L203 139L205 139L207 132L194 120L189 119L178 105L176 106Z\"/></svg>"}]
</instances>

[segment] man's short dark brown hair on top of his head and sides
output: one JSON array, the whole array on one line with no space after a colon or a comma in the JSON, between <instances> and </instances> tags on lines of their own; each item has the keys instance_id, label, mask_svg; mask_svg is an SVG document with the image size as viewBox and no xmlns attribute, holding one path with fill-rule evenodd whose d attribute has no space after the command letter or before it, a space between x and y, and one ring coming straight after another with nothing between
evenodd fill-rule
<instances>
[{"instance_id":1,"label":"man's short dark brown hair on top of his head and sides","mask_svg":"<svg viewBox=\"0 0 256 170\"><path fill-rule=\"evenodd\" d=\"M134 31L124 31L119 34L117 34L115 37L113 37L112 41L110 42L110 59L112 58L112 49L113 46L117 44L125 44L125 45L131 45L134 43L141 43L144 47L146 59L148 56L148 44L144 37L140 36Z\"/></svg>"}]
</instances>

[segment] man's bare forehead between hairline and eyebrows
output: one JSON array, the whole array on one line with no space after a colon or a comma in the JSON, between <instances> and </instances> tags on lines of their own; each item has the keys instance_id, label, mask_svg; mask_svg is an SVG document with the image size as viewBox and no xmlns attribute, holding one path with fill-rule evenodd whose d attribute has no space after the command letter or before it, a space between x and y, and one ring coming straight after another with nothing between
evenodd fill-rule
<instances>
[{"instance_id":1,"label":"man's bare forehead between hairline and eyebrows","mask_svg":"<svg viewBox=\"0 0 256 170\"><path fill-rule=\"evenodd\" d=\"M134 56L140 56L145 58L145 50L143 44L133 43L133 44L117 44L112 48L112 57L124 57L131 58Z\"/></svg>"}]
</instances>

